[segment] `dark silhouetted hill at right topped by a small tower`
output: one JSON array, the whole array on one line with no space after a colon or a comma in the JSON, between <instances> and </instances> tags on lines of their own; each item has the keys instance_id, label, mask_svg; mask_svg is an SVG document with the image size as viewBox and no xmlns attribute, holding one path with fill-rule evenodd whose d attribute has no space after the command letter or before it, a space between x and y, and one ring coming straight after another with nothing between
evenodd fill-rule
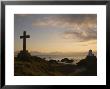
<instances>
[{"instance_id":1,"label":"dark silhouetted hill at right topped by a small tower","mask_svg":"<svg viewBox=\"0 0 110 89\"><path fill-rule=\"evenodd\" d=\"M77 66L86 68L81 75L97 75L97 58L92 54L91 50L89 50L89 54L85 59L77 63Z\"/></svg>"}]
</instances>

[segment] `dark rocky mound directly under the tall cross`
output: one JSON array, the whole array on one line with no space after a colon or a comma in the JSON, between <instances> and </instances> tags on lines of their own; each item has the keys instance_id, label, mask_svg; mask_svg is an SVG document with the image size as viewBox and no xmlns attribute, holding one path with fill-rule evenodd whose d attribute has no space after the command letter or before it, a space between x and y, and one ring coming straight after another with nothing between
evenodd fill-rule
<instances>
[{"instance_id":1,"label":"dark rocky mound directly under the tall cross","mask_svg":"<svg viewBox=\"0 0 110 89\"><path fill-rule=\"evenodd\" d=\"M17 58L18 59L21 59L21 60L28 60L28 59L31 58L31 55L28 52L28 50L26 50L26 51L20 51L20 53L18 53Z\"/></svg>"}]
</instances>

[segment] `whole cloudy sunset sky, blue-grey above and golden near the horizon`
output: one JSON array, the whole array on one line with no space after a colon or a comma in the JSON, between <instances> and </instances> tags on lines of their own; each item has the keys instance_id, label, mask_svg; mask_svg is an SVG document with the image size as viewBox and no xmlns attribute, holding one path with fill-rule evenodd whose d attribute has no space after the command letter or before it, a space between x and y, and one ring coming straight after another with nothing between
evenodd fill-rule
<instances>
[{"instance_id":1,"label":"whole cloudy sunset sky, blue-grey above and golden near the horizon","mask_svg":"<svg viewBox=\"0 0 110 89\"><path fill-rule=\"evenodd\" d=\"M14 51L22 50L23 31L30 52L97 51L96 14L15 14Z\"/></svg>"}]
</instances>

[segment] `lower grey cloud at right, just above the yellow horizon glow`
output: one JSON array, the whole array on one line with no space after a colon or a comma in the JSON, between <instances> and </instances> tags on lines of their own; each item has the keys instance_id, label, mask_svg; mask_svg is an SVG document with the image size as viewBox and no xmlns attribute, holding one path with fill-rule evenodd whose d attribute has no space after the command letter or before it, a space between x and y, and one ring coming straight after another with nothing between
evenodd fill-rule
<instances>
[{"instance_id":1,"label":"lower grey cloud at right, just above the yellow horizon glow","mask_svg":"<svg viewBox=\"0 0 110 89\"><path fill-rule=\"evenodd\" d=\"M94 29L82 30L82 31L65 31L63 33L64 39L73 39L74 41L89 41L96 40L97 32Z\"/></svg>"}]
</instances>

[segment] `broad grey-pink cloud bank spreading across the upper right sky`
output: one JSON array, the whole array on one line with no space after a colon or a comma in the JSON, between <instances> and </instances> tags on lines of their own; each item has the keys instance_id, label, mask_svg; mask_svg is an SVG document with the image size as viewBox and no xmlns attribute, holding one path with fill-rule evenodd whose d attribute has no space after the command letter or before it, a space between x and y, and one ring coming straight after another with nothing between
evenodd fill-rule
<instances>
[{"instance_id":1,"label":"broad grey-pink cloud bank spreading across the upper right sky","mask_svg":"<svg viewBox=\"0 0 110 89\"><path fill-rule=\"evenodd\" d=\"M66 29L64 39L74 41L96 40L96 14L43 15L32 23L33 27Z\"/></svg>"}]
</instances>

